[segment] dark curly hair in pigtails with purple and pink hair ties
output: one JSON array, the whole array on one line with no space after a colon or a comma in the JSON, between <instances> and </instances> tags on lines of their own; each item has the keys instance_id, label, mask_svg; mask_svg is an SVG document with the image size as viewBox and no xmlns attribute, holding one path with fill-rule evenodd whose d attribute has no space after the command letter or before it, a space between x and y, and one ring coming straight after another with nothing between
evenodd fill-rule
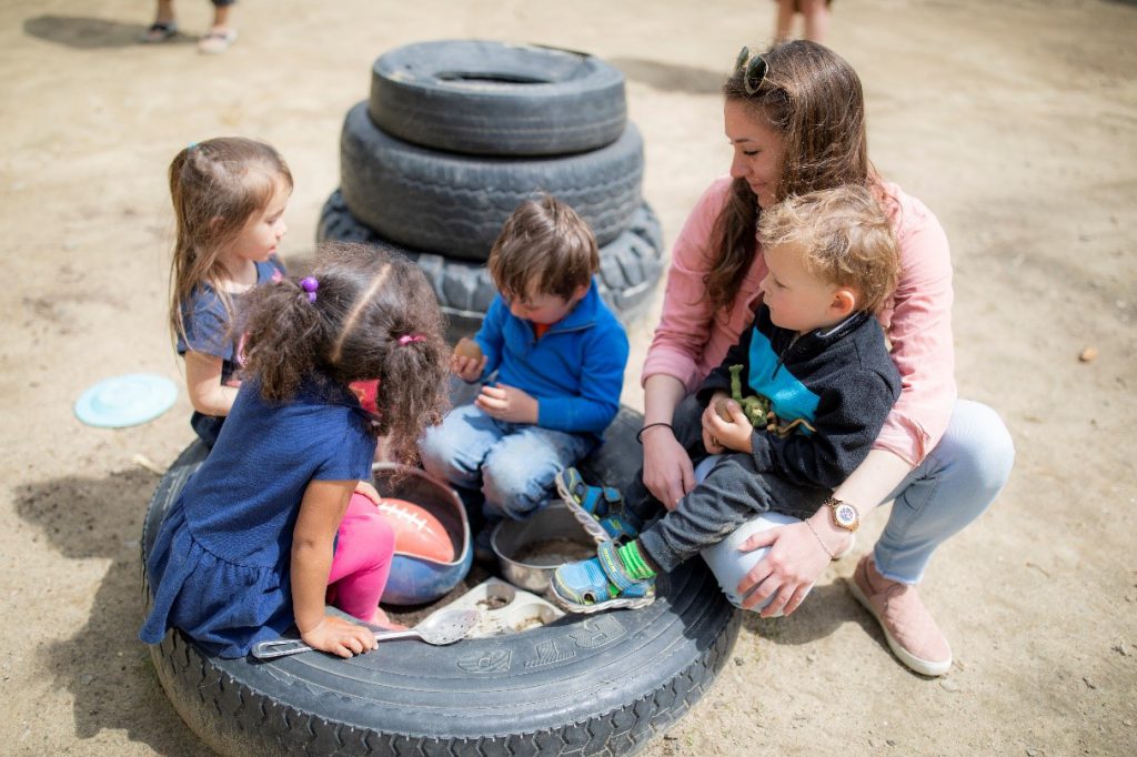
<instances>
[{"instance_id":1,"label":"dark curly hair in pigtails with purple and pink hair ties","mask_svg":"<svg viewBox=\"0 0 1137 757\"><path fill-rule=\"evenodd\" d=\"M377 378L372 431L390 436L397 459L413 463L418 436L448 406L450 355L426 276L389 250L324 242L312 277L312 302L297 277L249 294L242 375L259 381L273 402L288 401L306 381L346 386Z\"/></svg>"}]
</instances>

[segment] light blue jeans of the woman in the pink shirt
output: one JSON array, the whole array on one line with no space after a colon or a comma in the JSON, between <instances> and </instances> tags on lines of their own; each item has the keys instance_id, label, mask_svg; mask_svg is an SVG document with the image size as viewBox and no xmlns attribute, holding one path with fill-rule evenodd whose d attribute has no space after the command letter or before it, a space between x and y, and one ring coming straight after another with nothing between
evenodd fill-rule
<instances>
[{"instance_id":1,"label":"light blue jeans of the woman in the pink shirt","mask_svg":"<svg viewBox=\"0 0 1137 757\"><path fill-rule=\"evenodd\" d=\"M1014 444L998 414L986 405L957 400L944 438L886 499L894 500L893 509L872 552L881 575L919 583L936 548L995 501L1013 465ZM703 550L703 559L736 607L742 600L738 582L767 551L741 552L739 544L753 533L792 522L785 515L761 515Z\"/></svg>"}]
</instances>

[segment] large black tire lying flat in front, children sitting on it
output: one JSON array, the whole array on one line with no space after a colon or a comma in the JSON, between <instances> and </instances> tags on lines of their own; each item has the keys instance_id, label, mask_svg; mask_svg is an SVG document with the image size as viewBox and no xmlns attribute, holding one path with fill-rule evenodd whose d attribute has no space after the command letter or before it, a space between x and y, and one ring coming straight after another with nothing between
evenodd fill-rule
<instances>
[{"instance_id":1,"label":"large black tire lying flat in front, children sitting on it","mask_svg":"<svg viewBox=\"0 0 1137 757\"><path fill-rule=\"evenodd\" d=\"M626 481L641 423L623 409L587 475ZM205 454L194 442L159 482L143 566L166 508ZM142 584L149 606L144 568ZM221 754L625 755L703 694L740 625L702 560L662 576L658 593L640 610L567 616L451 647L390 642L397 654L381 648L351 660L219 659L179 631L150 651L175 709Z\"/></svg>"}]
</instances>

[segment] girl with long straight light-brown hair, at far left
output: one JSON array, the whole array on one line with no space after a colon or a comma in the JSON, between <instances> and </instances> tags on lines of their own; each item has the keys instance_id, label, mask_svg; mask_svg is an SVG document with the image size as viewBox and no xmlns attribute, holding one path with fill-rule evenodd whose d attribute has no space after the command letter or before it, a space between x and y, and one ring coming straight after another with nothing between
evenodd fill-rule
<instances>
[{"instance_id":1,"label":"girl with long straight light-brown hair, at far left","mask_svg":"<svg viewBox=\"0 0 1137 757\"><path fill-rule=\"evenodd\" d=\"M191 144L169 165L176 217L169 325L193 405L190 425L213 447L236 397L244 296L279 280L292 174L272 147L243 138Z\"/></svg>"}]
</instances>

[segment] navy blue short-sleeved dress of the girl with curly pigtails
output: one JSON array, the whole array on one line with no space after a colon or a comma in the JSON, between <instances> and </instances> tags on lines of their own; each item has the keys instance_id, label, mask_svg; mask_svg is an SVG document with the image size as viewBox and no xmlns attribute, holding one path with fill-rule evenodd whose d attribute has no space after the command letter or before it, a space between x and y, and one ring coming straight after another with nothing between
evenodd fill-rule
<instances>
[{"instance_id":1,"label":"navy blue short-sleeved dress of the girl with curly pigtails","mask_svg":"<svg viewBox=\"0 0 1137 757\"><path fill-rule=\"evenodd\" d=\"M375 439L345 386L309 382L284 405L241 385L213 452L161 524L147 561L153 608L139 638L179 627L243 657L293 623L292 531L313 480L371 480Z\"/></svg>"}]
</instances>

